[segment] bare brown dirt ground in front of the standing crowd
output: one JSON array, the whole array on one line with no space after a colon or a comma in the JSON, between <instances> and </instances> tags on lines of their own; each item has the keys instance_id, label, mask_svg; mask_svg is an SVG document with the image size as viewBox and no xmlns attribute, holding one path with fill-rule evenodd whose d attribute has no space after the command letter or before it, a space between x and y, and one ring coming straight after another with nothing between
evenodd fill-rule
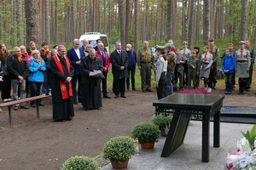
<instances>
[{"instance_id":1,"label":"bare brown dirt ground in front of the standing crowd","mask_svg":"<svg viewBox=\"0 0 256 170\"><path fill-rule=\"evenodd\" d=\"M138 122L148 122L154 114L153 93L127 92L126 99L102 99L102 110L84 111L81 103L74 105L72 121L53 122L51 99L44 99L40 118L36 109L13 112L9 126L8 108L0 112L0 169L60 169L71 156L96 156L111 138L129 135ZM239 95L238 86L225 95L226 106L255 106L255 86ZM217 85L212 94L224 94L224 86Z\"/></svg>"}]
</instances>

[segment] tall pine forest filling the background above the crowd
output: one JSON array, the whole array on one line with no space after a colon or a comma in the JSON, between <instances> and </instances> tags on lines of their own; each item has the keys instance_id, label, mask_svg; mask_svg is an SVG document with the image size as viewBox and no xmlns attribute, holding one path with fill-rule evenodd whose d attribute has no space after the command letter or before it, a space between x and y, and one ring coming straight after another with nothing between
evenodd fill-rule
<instances>
[{"instance_id":1,"label":"tall pine forest filling the background above the crowd","mask_svg":"<svg viewBox=\"0 0 256 170\"><path fill-rule=\"evenodd\" d=\"M256 42L256 0L0 0L0 42L68 45L84 32L130 42ZM125 46L123 46L125 47Z\"/></svg>"}]
</instances>

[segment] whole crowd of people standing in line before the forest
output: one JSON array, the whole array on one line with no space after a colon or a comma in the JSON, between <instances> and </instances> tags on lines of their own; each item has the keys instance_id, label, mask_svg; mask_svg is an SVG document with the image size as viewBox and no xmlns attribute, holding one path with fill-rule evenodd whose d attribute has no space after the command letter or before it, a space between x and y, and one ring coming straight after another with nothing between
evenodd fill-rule
<instances>
[{"instance_id":1,"label":"whole crowd of people standing in line before the forest","mask_svg":"<svg viewBox=\"0 0 256 170\"><path fill-rule=\"evenodd\" d=\"M209 45L204 46L202 54L199 46L190 51L188 42L183 42L181 50L175 48L172 40L164 47L156 46L155 51L148 48L148 41L144 41L143 48L138 53L132 49L130 43L123 50L121 42L116 42L110 56L101 39L96 41L96 47L92 47L87 39L83 40L81 48L79 44L79 39L74 39L73 48L66 50L63 45L55 45L49 51L48 43L44 42L39 51L35 42L30 42L27 49L21 45L14 48L14 54L9 54L6 44L1 43L0 85L3 102L51 94L53 119L71 120L74 116L73 104L78 105L80 102L85 111L90 111L102 108L102 96L111 99L107 90L110 64L115 99L126 98L125 92L130 89L137 91L137 66L143 93L153 91L151 76L152 70L154 71L158 99L177 91L177 82L180 90L199 88L200 80L203 80L208 93L216 89L219 49L214 45L213 38L209 39ZM255 50L250 47L248 39L239 42L239 46L235 51L233 44L229 43L221 55L222 70L226 77L225 94L231 94L234 90L235 77L238 77L239 94L245 94L251 88ZM35 101L31 101L30 105L35 107ZM39 101L39 105L44 104ZM24 103L15 105L14 110L19 108L29 107Z\"/></svg>"}]
</instances>

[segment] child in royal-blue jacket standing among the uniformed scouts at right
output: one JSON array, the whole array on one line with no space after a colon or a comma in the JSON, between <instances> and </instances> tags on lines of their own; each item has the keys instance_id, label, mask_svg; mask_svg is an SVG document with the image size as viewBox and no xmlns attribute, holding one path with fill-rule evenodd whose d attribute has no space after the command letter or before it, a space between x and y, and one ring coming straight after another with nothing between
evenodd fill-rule
<instances>
[{"instance_id":1,"label":"child in royal-blue jacket standing among the uniformed scouts at right","mask_svg":"<svg viewBox=\"0 0 256 170\"><path fill-rule=\"evenodd\" d=\"M236 59L232 54L232 50L227 48L222 62L222 70L226 77L226 94L231 94L233 80L235 78Z\"/></svg>"}]
</instances>

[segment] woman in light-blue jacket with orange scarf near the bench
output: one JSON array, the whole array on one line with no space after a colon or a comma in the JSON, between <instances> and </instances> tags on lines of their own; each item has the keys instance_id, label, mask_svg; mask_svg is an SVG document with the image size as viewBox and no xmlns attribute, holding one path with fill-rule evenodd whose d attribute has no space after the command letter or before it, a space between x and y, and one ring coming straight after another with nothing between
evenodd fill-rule
<instances>
[{"instance_id":1,"label":"woman in light-blue jacket with orange scarf near the bench","mask_svg":"<svg viewBox=\"0 0 256 170\"><path fill-rule=\"evenodd\" d=\"M31 97L34 97L40 95L41 85L42 82L44 82L44 71L46 71L46 65L44 63L44 59L40 57L38 50L33 50L31 56L33 59L29 66L30 75L28 77L28 81L30 82ZM35 107L36 101L31 101L30 105ZM44 105L41 103L41 100L39 100L39 105Z\"/></svg>"}]
</instances>

